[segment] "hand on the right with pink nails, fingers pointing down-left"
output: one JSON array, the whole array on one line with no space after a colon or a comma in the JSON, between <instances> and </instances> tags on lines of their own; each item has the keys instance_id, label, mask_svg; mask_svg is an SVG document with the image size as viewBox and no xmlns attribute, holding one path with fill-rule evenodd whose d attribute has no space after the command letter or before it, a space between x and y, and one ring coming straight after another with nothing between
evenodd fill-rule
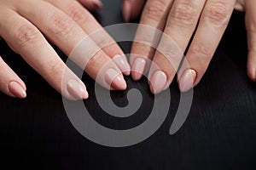
<instances>
[{"instance_id":1,"label":"hand on the right with pink nails, fingers pointing down-left","mask_svg":"<svg viewBox=\"0 0 256 170\"><path fill-rule=\"evenodd\" d=\"M123 13L126 21L134 19L143 8L144 0L124 0ZM136 8L137 7L137 8ZM127 9L128 8L128 9ZM248 41L247 74L256 82L256 1L255 0L148 0L143 9L141 24L164 31L177 43L182 55L188 48L186 59L188 65L181 65L177 72L177 82L182 92L188 91L200 81L218 47L218 43L228 26L233 9L246 11ZM135 11L134 11L135 10ZM195 35L193 36L193 33ZM160 67L151 66L148 78L151 92L160 93L168 88L180 66L179 56L168 44L166 38L147 37L147 31L140 27L135 40L146 40L146 43L134 42L131 48L131 76L139 80L147 71L145 59L153 59ZM154 35L153 33L151 35ZM147 38L145 38L147 37ZM189 41L192 37L192 42ZM145 44L158 42L158 48ZM189 46L189 47L188 47ZM163 52L163 53L160 53ZM168 59L166 59L166 57ZM169 62L171 61L171 63Z\"/></svg>"}]
</instances>

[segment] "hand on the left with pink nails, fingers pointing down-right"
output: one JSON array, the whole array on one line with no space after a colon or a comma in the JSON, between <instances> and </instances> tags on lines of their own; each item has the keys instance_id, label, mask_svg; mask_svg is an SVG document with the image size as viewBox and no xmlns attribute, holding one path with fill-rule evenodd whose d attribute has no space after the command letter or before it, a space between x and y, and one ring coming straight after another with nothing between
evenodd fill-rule
<instances>
[{"instance_id":1,"label":"hand on the left with pink nails, fingers pointing down-right","mask_svg":"<svg viewBox=\"0 0 256 170\"><path fill-rule=\"evenodd\" d=\"M102 7L102 3L96 0L81 0L81 3L90 9ZM87 99L88 93L84 82L67 69L45 37L69 56L84 37L102 29L81 3L76 0L0 0L0 37L67 99ZM121 71L129 75L130 66L122 50L107 32L91 40L96 44L104 41L113 43L106 48L99 48L83 69L90 77L96 78L102 66L108 63L106 75L103 75L104 80L100 80L100 83L108 83L113 89L123 90L126 83ZM90 47L80 51L84 59ZM74 61L78 65L81 62L75 58ZM67 75L63 75L64 71L67 71ZM3 93L18 98L26 97L25 83L2 58L0 77L0 90Z\"/></svg>"}]
</instances>

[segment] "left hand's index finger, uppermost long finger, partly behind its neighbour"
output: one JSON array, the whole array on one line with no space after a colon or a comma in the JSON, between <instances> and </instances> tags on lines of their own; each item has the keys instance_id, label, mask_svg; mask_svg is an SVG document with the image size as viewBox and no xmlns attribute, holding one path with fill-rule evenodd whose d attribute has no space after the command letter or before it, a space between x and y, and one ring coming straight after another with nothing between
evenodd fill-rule
<instances>
[{"instance_id":1,"label":"left hand's index finger, uppermost long finger, partly behind its neighbour","mask_svg":"<svg viewBox=\"0 0 256 170\"><path fill-rule=\"evenodd\" d=\"M131 68L125 54L113 38L104 31L102 26L100 26L96 19L87 10L73 0L49 0L49 3L60 8L64 13L76 21L79 26L81 26L83 30L90 35L90 38L93 39L94 42L96 42L96 44L113 59L115 64L119 66L120 71L122 71L126 76L130 75Z\"/></svg>"}]
</instances>

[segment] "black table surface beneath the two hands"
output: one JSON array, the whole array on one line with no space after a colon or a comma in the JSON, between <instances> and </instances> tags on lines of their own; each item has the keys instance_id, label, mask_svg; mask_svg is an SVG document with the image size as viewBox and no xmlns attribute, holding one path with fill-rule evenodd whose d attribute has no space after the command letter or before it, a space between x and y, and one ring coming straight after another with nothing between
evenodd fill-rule
<instances>
[{"instance_id":1,"label":"black table surface beneath the two hands","mask_svg":"<svg viewBox=\"0 0 256 170\"><path fill-rule=\"evenodd\" d=\"M96 12L103 26L122 23L121 1L103 1ZM131 42L119 44L129 53ZM179 102L177 83L170 87L172 103L166 121L140 144L111 148L85 139L67 118L61 95L55 92L5 42L3 59L26 82L27 98L0 94L0 166L35 169L249 169L256 162L256 84L247 77L247 41L244 14L235 12L194 99L187 121L174 135L168 131ZM66 56L56 49L62 59ZM113 101L127 105L126 93L138 88L143 105L134 116L115 119L96 109L95 82L84 81L90 99L84 101L97 122L107 127L136 127L147 119L154 99L147 80L112 92ZM94 111L94 112L93 112Z\"/></svg>"}]
</instances>

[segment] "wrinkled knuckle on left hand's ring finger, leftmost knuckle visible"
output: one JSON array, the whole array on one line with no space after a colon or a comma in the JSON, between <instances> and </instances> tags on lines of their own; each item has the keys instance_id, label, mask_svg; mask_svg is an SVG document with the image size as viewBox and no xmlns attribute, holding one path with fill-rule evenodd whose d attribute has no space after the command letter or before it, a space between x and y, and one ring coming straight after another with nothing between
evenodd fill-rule
<instances>
[{"instance_id":1,"label":"wrinkled knuckle on left hand's ring finger, leftmost knuckle visible","mask_svg":"<svg viewBox=\"0 0 256 170\"><path fill-rule=\"evenodd\" d=\"M31 46L38 42L40 32L32 26L20 26L14 33L15 40L19 47Z\"/></svg>"}]
</instances>

